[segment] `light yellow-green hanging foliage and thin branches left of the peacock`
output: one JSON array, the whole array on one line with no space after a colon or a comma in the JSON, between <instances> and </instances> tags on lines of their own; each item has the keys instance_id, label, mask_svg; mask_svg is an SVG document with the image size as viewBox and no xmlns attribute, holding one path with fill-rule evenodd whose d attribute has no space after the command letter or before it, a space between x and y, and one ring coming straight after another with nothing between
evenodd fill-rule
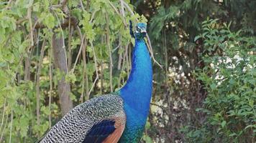
<instances>
[{"instance_id":1,"label":"light yellow-green hanging foliage and thin branches left of the peacock","mask_svg":"<svg viewBox=\"0 0 256 143\"><path fill-rule=\"evenodd\" d=\"M132 51L129 20L145 22L128 4L0 2L0 142L35 142L58 122L63 77L75 105L124 84ZM54 64L53 34L65 41L67 74Z\"/></svg>"}]
</instances>

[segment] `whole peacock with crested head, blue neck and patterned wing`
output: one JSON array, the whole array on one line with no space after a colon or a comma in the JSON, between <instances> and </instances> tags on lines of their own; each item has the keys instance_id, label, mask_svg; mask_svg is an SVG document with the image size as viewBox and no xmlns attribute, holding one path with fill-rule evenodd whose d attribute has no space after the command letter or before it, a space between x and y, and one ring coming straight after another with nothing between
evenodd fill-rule
<instances>
[{"instance_id":1,"label":"whole peacock with crested head, blue neck and patterned wing","mask_svg":"<svg viewBox=\"0 0 256 143\"><path fill-rule=\"evenodd\" d=\"M152 95L152 63L145 44L147 24L138 23L130 34L135 39L132 70L117 92L94 97L55 124L40 143L139 142L147 121Z\"/></svg>"}]
</instances>

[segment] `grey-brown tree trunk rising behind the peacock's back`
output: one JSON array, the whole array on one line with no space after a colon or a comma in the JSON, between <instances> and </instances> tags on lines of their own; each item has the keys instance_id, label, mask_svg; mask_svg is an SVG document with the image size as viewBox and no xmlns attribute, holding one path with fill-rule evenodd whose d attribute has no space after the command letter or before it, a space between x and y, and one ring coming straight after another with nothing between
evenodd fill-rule
<instances>
[{"instance_id":1,"label":"grey-brown tree trunk rising behind the peacock's back","mask_svg":"<svg viewBox=\"0 0 256 143\"><path fill-rule=\"evenodd\" d=\"M65 82L65 75L68 73L68 64L65 53L64 39L62 36L58 37L58 34L52 36L52 49L55 68L60 69L61 73L64 73L62 79L58 81L58 94L60 97L61 113L65 115L73 108L73 102L70 99L70 84Z\"/></svg>"}]
</instances>

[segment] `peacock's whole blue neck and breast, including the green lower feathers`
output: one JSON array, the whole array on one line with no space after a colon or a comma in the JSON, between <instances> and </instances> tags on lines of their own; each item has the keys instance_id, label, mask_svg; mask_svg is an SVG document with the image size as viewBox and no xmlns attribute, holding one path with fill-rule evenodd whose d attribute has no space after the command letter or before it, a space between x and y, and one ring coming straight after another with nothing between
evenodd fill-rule
<instances>
[{"instance_id":1,"label":"peacock's whole blue neck and breast, including the green lower feathers","mask_svg":"<svg viewBox=\"0 0 256 143\"><path fill-rule=\"evenodd\" d=\"M119 143L139 142L147 121L152 94L152 63L144 40L135 40L132 71L127 84L120 89L127 117Z\"/></svg>"}]
</instances>

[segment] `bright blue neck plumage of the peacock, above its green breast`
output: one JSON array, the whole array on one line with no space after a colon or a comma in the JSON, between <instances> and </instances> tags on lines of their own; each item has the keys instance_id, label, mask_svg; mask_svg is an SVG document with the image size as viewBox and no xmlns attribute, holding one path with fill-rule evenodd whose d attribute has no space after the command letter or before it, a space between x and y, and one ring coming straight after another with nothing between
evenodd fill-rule
<instances>
[{"instance_id":1,"label":"bright blue neck plumage of the peacock, above its green breast","mask_svg":"<svg viewBox=\"0 0 256 143\"><path fill-rule=\"evenodd\" d=\"M152 94L152 63L144 39L135 39L132 71L120 92L126 108L132 108L147 118Z\"/></svg>"}]
</instances>

